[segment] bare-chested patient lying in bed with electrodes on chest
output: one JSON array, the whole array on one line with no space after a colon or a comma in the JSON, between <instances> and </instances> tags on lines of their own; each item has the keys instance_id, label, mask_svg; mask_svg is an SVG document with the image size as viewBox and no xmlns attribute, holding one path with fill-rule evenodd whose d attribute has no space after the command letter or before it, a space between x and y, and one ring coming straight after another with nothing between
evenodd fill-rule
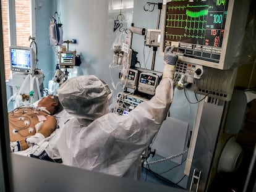
<instances>
[{"instance_id":1,"label":"bare-chested patient lying in bed with electrodes on chest","mask_svg":"<svg viewBox=\"0 0 256 192\"><path fill-rule=\"evenodd\" d=\"M49 95L37 107L18 107L9 112L11 152L25 150L51 135L57 126L53 115L62 109L58 96Z\"/></svg>"}]
</instances>

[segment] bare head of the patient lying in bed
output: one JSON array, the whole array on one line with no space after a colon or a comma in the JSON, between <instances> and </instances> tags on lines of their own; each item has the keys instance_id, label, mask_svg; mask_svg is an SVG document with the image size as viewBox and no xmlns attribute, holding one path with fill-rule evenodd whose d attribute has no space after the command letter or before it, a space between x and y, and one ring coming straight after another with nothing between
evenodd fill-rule
<instances>
[{"instance_id":1,"label":"bare head of the patient lying in bed","mask_svg":"<svg viewBox=\"0 0 256 192\"><path fill-rule=\"evenodd\" d=\"M49 94L48 96L42 98L38 102L38 107L45 107L45 109L48 110L51 115L54 115L63 109L61 103L59 102L58 96L53 94Z\"/></svg>"}]
</instances>

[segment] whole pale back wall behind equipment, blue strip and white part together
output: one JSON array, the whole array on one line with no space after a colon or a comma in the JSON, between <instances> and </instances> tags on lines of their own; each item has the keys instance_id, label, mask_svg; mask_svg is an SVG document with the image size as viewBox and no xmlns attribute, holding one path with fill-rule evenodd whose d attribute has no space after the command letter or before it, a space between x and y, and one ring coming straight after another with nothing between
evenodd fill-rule
<instances>
[{"instance_id":1,"label":"whole pale back wall behind equipment, blue strip and white part together","mask_svg":"<svg viewBox=\"0 0 256 192\"><path fill-rule=\"evenodd\" d=\"M132 23L135 27L155 29L158 22L158 7L153 11L143 9L145 0L122 0L121 14L124 15L122 28L129 28ZM161 2L153 0L150 2ZM77 40L77 44L69 44L70 51L77 51L82 59L80 67L69 69L69 77L76 75L96 75L111 85L111 78L116 84L119 70L111 70L109 64L113 59L111 46L120 35L120 31L114 31L114 20L120 14L121 1L119 0L35 0L36 15L36 42L38 44L38 68L45 74L45 87L53 78L56 67L56 56L53 48L49 46L49 22L51 15L58 12L63 24L63 40ZM151 7L150 7L151 8ZM120 20L120 18L119 18ZM160 25L161 26L161 25ZM67 44L64 44L67 46ZM132 37L132 49L139 52L138 61L142 68L151 69L153 58L152 48L144 46L144 36L134 34ZM139 67L139 64L137 65ZM155 70L163 70L163 57L156 52ZM113 87L111 87L113 89ZM114 90L115 91L115 90ZM117 93L121 91L117 87Z\"/></svg>"}]
</instances>

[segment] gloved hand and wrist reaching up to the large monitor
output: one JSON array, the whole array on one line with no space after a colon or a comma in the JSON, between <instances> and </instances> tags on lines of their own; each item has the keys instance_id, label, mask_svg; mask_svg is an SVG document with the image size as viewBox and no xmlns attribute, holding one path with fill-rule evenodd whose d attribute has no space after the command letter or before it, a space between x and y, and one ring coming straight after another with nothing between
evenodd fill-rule
<instances>
[{"instance_id":1,"label":"gloved hand and wrist reaching up to the large monitor","mask_svg":"<svg viewBox=\"0 0 256 192\"><path fill-rule=\"evenodd\" d=\"M178 56L173 53L174 46L168 46L164 49L164 69L163 78L172 78L175 72L175 64Z\"/></svg>"}]
</instances>

